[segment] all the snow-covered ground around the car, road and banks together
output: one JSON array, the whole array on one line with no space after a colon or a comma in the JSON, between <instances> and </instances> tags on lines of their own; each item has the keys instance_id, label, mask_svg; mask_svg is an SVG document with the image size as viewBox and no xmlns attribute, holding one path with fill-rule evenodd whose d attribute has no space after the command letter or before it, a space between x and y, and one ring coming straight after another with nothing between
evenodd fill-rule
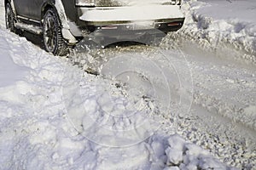
<instances>
[{"instance_id":1,"label":"all the snow-covered ground around the car, road and banks together","mask_svg":"<svg viewBox=\"0 0 256 170\"><path fill-rule=\"evenodd\" d=\"M240 10L225 15L229 4ZM253 5L185 3L186 25L161 48L65 59L6 31L2 2L0 169L253 169L255 20L241 15Z\"/></svg>"}]
</instances>

